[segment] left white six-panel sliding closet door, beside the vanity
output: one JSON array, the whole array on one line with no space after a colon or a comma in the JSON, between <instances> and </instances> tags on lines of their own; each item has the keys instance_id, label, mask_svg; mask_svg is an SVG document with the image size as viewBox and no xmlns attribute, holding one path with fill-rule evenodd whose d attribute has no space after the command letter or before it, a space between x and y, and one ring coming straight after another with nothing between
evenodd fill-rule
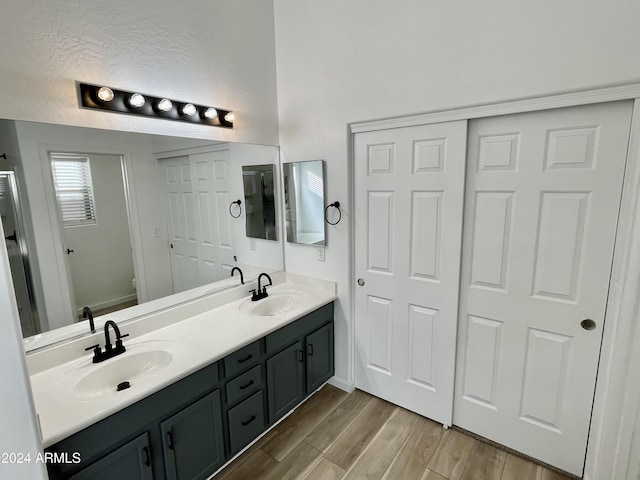
<instances>
[{"instance_id":1,"label":"left white six-panel sliding closet door, beside the vanity","mask_svg":"<svg viewBox=\"0 0 640 480\"><path fill-rule=\"evenodd\" d=\"M451 424L466 122L355 135L356 387Z\"/></svg>"}]
</instances>

